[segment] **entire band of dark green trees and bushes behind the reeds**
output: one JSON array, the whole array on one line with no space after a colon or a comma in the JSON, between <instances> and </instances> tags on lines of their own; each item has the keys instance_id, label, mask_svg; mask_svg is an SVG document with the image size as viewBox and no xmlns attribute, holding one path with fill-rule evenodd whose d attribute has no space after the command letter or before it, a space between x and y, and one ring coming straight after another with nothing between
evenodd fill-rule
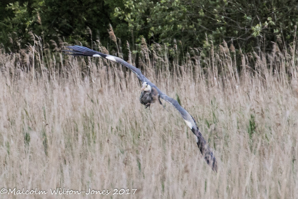
<instances>
[{"instance_id":1,"label":"entire band of dark green trees and bushes behind the reeds","mask_svg":"<svg viewBox=\"0 0 298 199\"><path fill-rule=\"evenodd\" d=\"M15 53L37 35L50 48L59 41L109 48L111 24L123 49L128 41L137 50L145 39L185 53L225 40L236 51L270 52L272 42L295 41L297 21L295 0L2 0L0 44Z\"/></svg>"}]
</instances>

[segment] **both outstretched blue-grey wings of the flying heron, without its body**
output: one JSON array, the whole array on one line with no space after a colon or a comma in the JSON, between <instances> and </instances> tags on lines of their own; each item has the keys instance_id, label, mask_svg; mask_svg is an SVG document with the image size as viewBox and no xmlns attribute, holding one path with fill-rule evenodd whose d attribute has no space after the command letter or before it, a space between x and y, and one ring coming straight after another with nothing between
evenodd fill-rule
<instances>
[{"instance_id":1,"label":"both outstretched blue-grey wings of the flying heron, without its body","mask_svg":"<svg viewBox=\"0 0 298 199\"><path fill-rule=\"evenodd\" d=\"M209 164L212 167L212 170L217 172L217 161L216 161L211 149L207 145L206 140L203 138L201 132L199 131L199 128L198 128L195 120L193 119L193 117L182 106L180 106L176 100L174 100L173 98L170 98L166 94L162 93L159 90L159 88L157 88L152 82L149 81L149 79L147 79L142 74L140 69L125 62L123 59L121 59L119 57L103 54L101 52L94 51L94 50L91 50L91 49L83 47L83 46L67 46L67 48L70 48L72 50L64 50L63 51L64 54L69 54L69 55L73 55L73 56L104 57L111 61L120 63L120 64L126 66L127 68L129 68L132 72L134 72L139 80L141 80L142 82L147 82L151 87L154 87L157 90L157 92L159 93L160 98L162 98L163 100L172 104L179 111L179 113L183 117L187 126L189 126L191 131L193 131L193 134L195 134L198 148L201 151L202 155L204 156L204 159L206 160L207 164Z\"/></svg>"}]
</instances>

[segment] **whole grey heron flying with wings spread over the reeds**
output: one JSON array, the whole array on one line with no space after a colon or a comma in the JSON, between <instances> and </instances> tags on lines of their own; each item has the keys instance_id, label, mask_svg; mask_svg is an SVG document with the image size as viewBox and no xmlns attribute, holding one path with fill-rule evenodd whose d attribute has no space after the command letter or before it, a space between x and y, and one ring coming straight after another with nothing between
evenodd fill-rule
<instances>
[{"instance_id":1,"label":"whole grey heron flying with wings spread over the reeds","mask_svg":"<svg viewBox=\"0 0 298 199\"><path fill-rule=\"evenodd\" d=\"M136 74L138 79L143 82L142 84L142 93L140 96L140 102L141 104L145 105L145 108L149 107L150 104L155 102L156 100L159 100L159 103L161 104L160 98L167 101L168 103L172 104L181 114L182 118L184 119L187 126L191 129L193 134L195 134L196 142L198 145L198 148L200 152L202 153L205 161L208 165L211 166L212 170L217 172L217 161L215 159L215 156L213 155L213 152L207 145L206 140L202 136L195 120L193 117L182 107L180 104L174 100L173 98L170 98L166 94L164 94L161 90L159 90L158 87L156 87L152 82L150 82L149 79L147 79L141 72L140 69L134 67L133 65L129 64L128 62L125 62L123 59L119 57L115 57L108 54L103 54L98 51L91 50L90 48L86 48L83 46L67 46L67 48L70 48L71 50L64 50L64 54L73 55L73 56L89 56L89 57L103 57L105 59L111 60L113 62L117 62L119 64L124 65L128 69L130 69L133 73Z\"/></svg>"}]
</instances>

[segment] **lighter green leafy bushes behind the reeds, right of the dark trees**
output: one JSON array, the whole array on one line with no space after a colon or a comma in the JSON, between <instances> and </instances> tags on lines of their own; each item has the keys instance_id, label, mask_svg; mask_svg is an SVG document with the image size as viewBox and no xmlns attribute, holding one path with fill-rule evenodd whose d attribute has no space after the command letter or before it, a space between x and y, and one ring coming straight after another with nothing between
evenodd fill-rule
<instances>
[{"instance_id":1,"label":"lighter green leafy bushes behind the reeds, right of the dark trees","mask_svg":"<svg viewBox=\"0 0 298 199\"><path fill-rule=\"evenodd\" d=\"M298 19L293 0L124 0L124 4L125 9L117 7L114 16L124 19L136 37L144 36L149 43L173 43L176 39L184 47L202 46L205 33L214 43L232 39L243 49L261 46L261 42L266 48L281 37L289 43Z\"/></svg>"}]
</instances>

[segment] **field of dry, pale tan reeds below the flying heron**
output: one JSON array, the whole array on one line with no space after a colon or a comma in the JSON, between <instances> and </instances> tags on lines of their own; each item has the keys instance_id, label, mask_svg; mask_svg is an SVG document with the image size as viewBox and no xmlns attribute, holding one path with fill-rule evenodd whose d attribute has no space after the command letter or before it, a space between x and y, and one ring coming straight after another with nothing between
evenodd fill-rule
<instances>
[{"instance_id":1,"label":"field of dry, pale tan reeds below the flying heron","mask_svg":"<svg viewBox=\"0 0 298 199\"><path fill-rule=\"evenodd\" d=\"M298 198L295 49L243 54L237 75L225 43L209 57L193 49L182 64L162 46L143 48L139 67L179 96L218 173L176 109L164 101L144 109L126 68L41 49L0 54L0 187L47 193L0 198ZM51 194L57 188L64 193Z\"/></svg>"}]
</instances>

